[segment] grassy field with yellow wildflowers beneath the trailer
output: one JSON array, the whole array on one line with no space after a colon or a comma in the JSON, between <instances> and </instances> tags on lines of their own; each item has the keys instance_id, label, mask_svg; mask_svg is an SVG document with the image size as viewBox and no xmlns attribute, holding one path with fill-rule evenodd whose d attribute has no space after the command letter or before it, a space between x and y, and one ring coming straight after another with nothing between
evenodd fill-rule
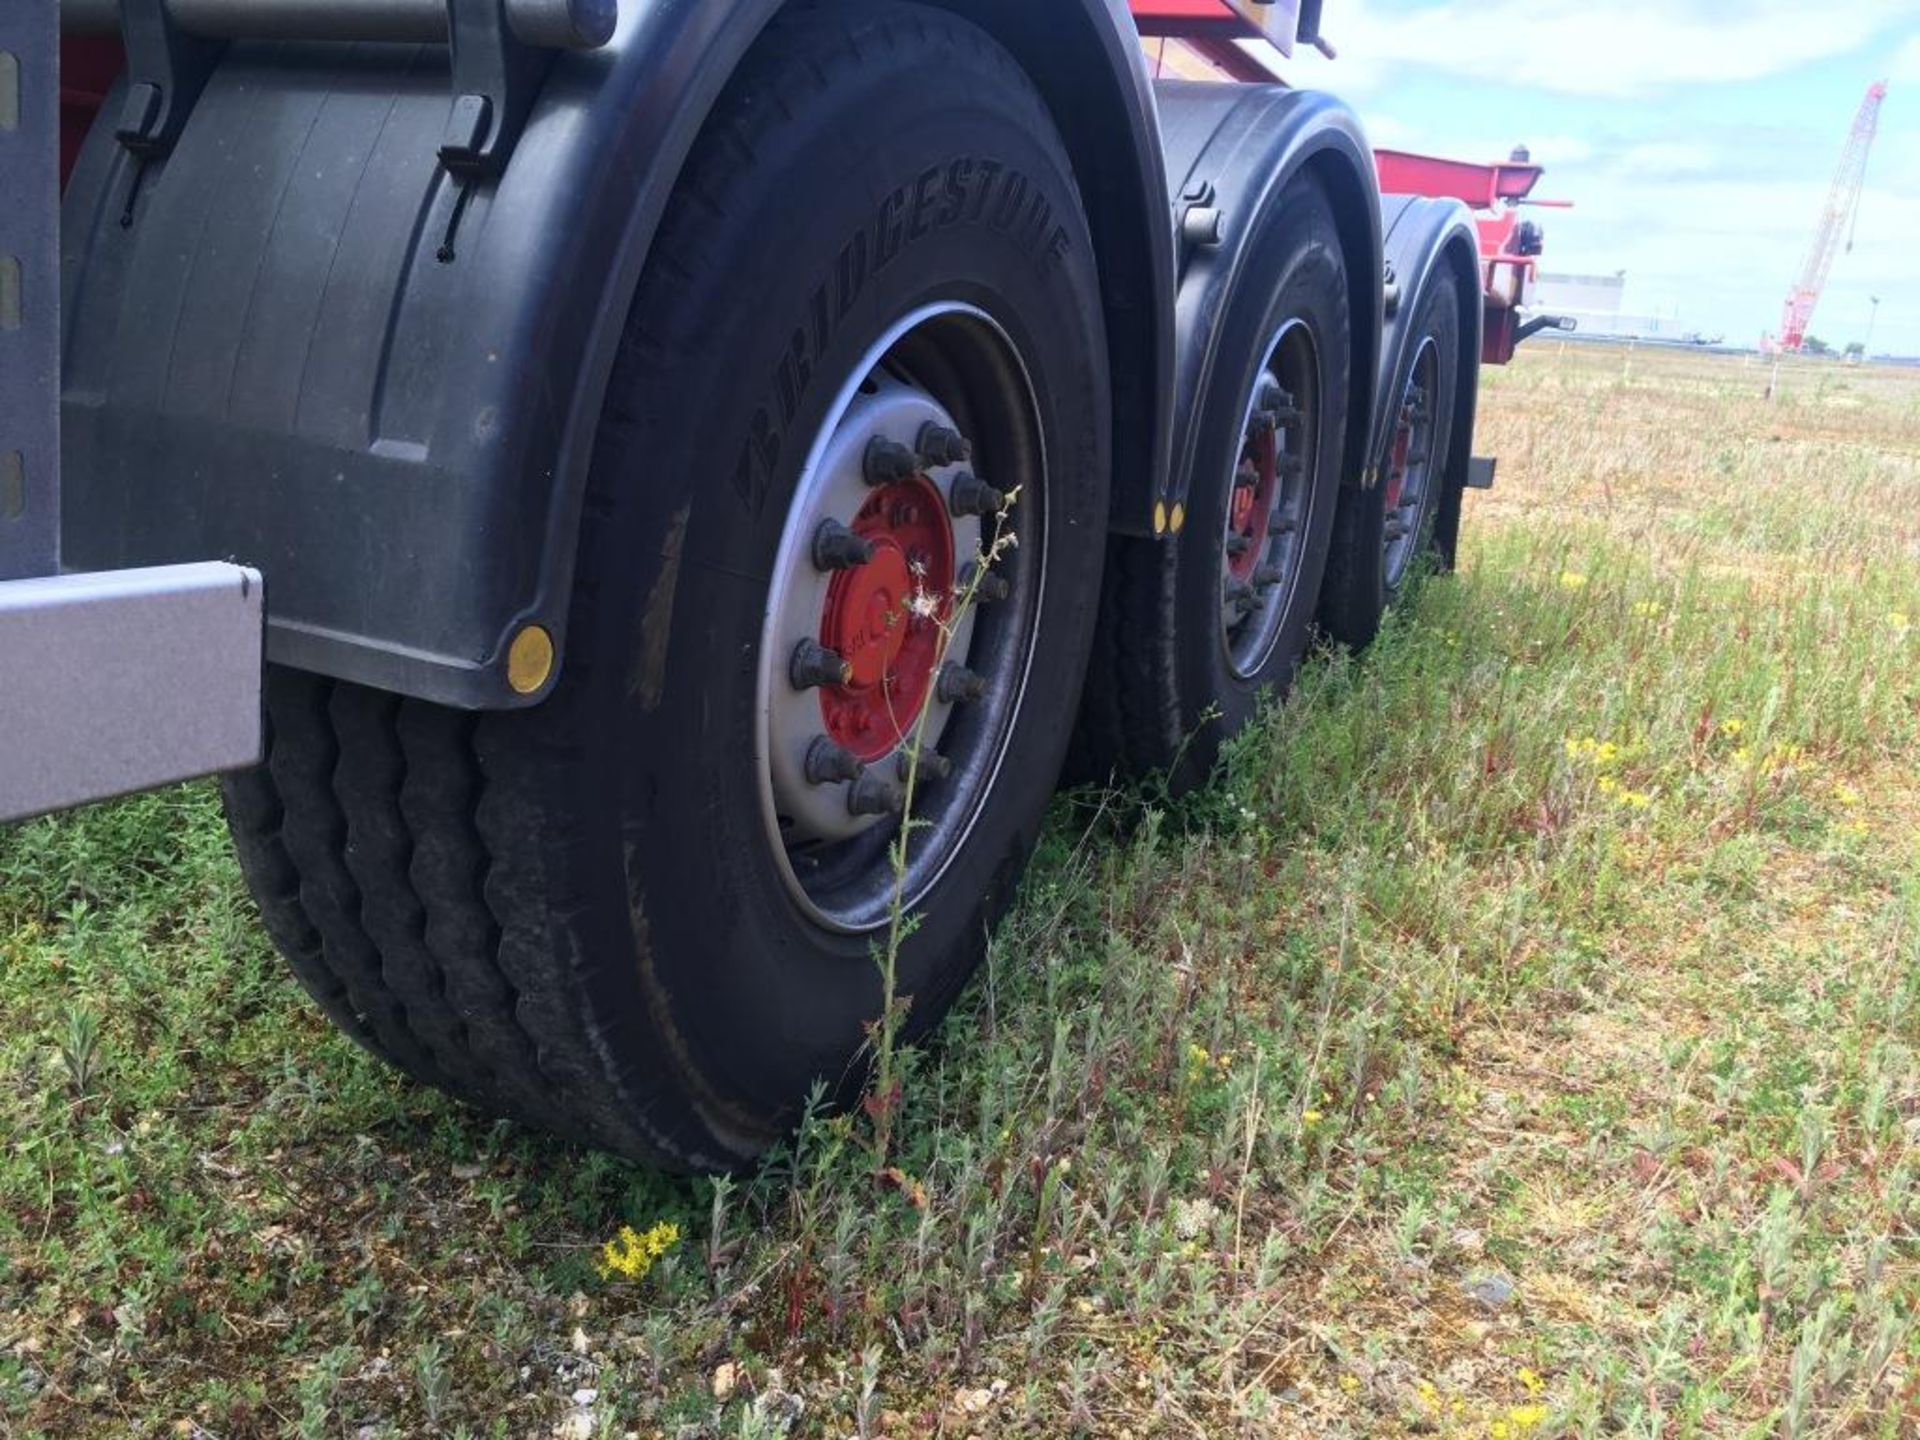
<instances>
[{"instance_id":1,"label":"grassy field with yellow wildflowers beneath the trailer","mask_svg":"<svg viewBox=\"0 0 1920 1440\"><path fill-rule=\"evenodd\" d=\"M0 1432L1920 1434L1920 374L1763 384L1494 374L1461 574L1058 804L887 1181L407 1089L207 787L0 835Z\"/></svg>"}]
</instances>

